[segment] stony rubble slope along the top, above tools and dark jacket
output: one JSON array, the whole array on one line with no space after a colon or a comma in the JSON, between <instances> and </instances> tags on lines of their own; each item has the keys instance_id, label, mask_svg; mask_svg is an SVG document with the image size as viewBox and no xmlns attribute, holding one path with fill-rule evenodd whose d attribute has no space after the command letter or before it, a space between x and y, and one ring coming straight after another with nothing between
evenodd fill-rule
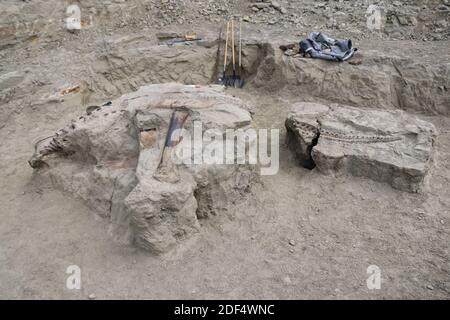
<instances>
[{"instance_id":1,"label":"stony rubble slope along the top, above tools and dark jacket","mask_svg":"<svg viewBox=\"0 0 450 320\"><path fill-rule=\"evenodd\" d=\"M84 0L78 2L81 32L69 35L61 23L67 18L65 2L4 0L0 5L0 49L17 51L17 47L21 47L20 54L27 56L26 53L36 48L64 45L67 38L92 43L89 35L108 36L117 31L132 34L136 30L167 26L183 26L183 30L192 31L205 21L221 23L233 15L243 17L246 23L295 30L299 38L311 31L322 31L352 39L449 39L448 2L400 3L377 1L382 12L382 27L370 32L366 24L369 4L365 0Z\"/></svg>"}]
</instances>

